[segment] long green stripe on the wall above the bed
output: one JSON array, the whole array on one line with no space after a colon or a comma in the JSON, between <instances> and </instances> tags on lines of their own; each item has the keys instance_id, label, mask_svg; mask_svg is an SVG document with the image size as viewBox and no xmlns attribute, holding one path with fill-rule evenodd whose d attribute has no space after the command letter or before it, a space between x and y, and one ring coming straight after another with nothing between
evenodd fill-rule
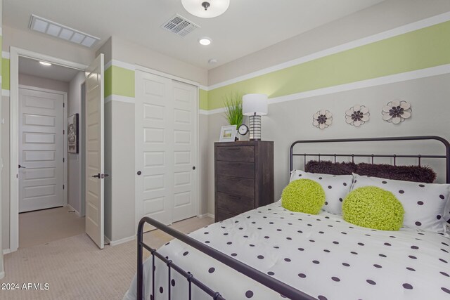
<instances>
[{"instance_id":1,"label":"long green stripe on the wall above the bed","mask_svg":"<svg viewBox=\"0 0 450 300\"><path fill-rule=\"evenodd\" d=\"M207 92L207 110L224 107L229 93L275 98L445 65L450 63L449 37L450 21L222 86Z\"/></svg>"}]
</instances>

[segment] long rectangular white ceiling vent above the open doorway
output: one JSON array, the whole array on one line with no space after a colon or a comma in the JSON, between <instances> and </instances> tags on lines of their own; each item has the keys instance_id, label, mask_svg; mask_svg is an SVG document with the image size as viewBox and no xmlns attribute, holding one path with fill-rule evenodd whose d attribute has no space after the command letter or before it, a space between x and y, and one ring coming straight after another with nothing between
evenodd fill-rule
<instances>
[{"instance_id":1,"label":"long rectangular white ceiling vent above the open doorway","mask_svg":"<svg viewBox=\"0 0 450 300\"><path fill-rule=\"evenodd\" d=\"M52 37L58 37L65 41L72 41L72 43L88 48L91 48L97 41L100 41L98 37L80 32L79 30L74 30L65 25L60 25L57 22L41 18L37 15L31 15L30 25L28 27L30 30L49 34Z\"/></svg>"}]
</instances>

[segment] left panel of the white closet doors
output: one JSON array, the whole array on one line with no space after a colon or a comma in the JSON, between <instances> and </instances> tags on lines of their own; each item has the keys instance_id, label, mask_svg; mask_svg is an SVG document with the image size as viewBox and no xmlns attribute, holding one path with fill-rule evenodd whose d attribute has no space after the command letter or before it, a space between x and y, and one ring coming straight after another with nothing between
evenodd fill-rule
<instances>
[{"instance_id":1,"label":"left panel of the white closet doors","mask_svg":"<svg viewBox=\"0 0 450 300\"><path fill-rule=\"evenodd\" d=\"M136 221L150 216L168 225L174 204L172 80L136 71L136 84Z\"/></svg>"}]
</instances>

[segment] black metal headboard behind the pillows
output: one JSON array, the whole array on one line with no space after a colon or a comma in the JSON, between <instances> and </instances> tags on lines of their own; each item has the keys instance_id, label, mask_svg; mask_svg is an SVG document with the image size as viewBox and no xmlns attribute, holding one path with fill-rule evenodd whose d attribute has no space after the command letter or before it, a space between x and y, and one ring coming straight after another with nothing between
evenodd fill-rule
<instances>
[{"instance_id":1,"label":"black metal headboard behind the pillows","mask_svg":"<svg viewBox=\"0 0 450 300\"><path fill-rule=\"evenodd\" d=\"M326 154L326 153L297 153L293 152L295 145L304 144L304 143L345 143L345 142L383 142L383 141L423 141L423 140L434 140L439 141L445 146L445 155L397 155L397 154ZM373 163L374 157L391 157L394 159L394 165L396 164L397 158L417 158L418 165L420 166L421 159L423 158L432 158L432 159L445 159L445 174L446 174L446 183L450 183L450 143L440 136L392 136L387 138L336 138L336 139L328 139L328 140L305 140L305 141L295 141L290 145L290 171L293 171L293 158L295 156L303 156L304 163L306 164L307 157L321 156L326 157L334 157L336 162L336 157L352 157L352 161L354 161L354 157L367 157L371 158Z\"/></svg>"}]
</instances>

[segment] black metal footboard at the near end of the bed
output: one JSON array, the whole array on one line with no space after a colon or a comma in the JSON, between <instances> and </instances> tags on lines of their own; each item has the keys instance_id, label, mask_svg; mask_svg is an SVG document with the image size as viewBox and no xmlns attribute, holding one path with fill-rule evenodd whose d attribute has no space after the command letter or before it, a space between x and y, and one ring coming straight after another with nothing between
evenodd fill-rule
<instances>
[{"instance_id":1,"label":"black metal footboard at the near end of the bed","mask_svg":"<svg viewBox=\"0 0 450 300\"><path fill-rule=\"evenodd\" d=\"M143 226L145 223L149 223L152 226L155 226L156 228L164 231L165 233L172 235L172 237L175 237L177 240L180 240L181 242L184 242L185 244L188 244L189 246L197 249L200 252L203 252L207 256L211 256L213 259L216 259L217 261L220 261L221 263L224 263L226 266L229 266L230 268L233 268L234 270L237 270L240 273L243 273L248 278L252 278L252 280L255 280L256 282L259 282L262 285L265 285L269 289L274 290L275 292L278 292L279 294L287 297L288 299L295 299L295 300L312 300L315 299L314 297L309 296L308 294L304 294L304 292L299 291L298 289L295 289L291 287L290 285L286 285L285 283L276 280L275 278L271 278L269 275L266 275L259 270L252 268L251 266L246 265L245 263L242 263L240 261L237 261L236 259L231 258L230 256L227 256L226 254L223 254L216 249L213 249L212 247L207 246L206 244L203 244L202 242L199 242L198 240L193 239L192 237L189 237L188 235L185 235L184 233L180 233L177 230L174 230L173 228L170 228L169 226L165 226L163 223L160 223L154 219L143 217L141 221L139 221L139 227L138 227L138 255L137 255L137 295L138 299L141 300L144 297L143 294L143 248L147 249L151 254L152 259L152 298L151 300L156 300L156 294L155 294L155 258L160 259L162 262L164 262L167 265L167 272L168 272L168 278L167 281L167 288L168 288L168 299L171 298L171 272L172 270L176 271L177 273L181 274L188 280L188 299L192 299L192 285L195 285L203 290L207 295L211 296L212 299L217 300L224 300L225 298L219 294L219 292L215 292L214 290L210 289L210 287L207 287L204 285L200 280L194 277L193 274L186 272L182 268L176 265L173 261L166 259L165 256L162 256L157 252L156 249L153 249L149 247L147 244L143 242ZM146 282L146 284L149 284L150 282ZM174 299L176 300L176 299Z\"/></svg>"}]
</instances>

